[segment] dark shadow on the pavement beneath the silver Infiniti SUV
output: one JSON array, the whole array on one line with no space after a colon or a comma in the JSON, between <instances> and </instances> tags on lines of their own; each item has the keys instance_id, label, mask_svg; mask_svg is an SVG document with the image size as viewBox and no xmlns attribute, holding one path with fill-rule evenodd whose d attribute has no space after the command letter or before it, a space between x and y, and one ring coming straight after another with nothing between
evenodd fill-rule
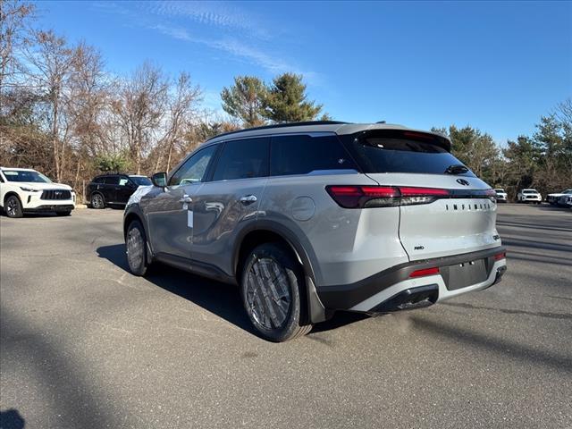
<instances>
[{"instance_id":1,"label":"dark shadow on the pavement beneath the silver Infiniti SUV","mask_svg":"<svg viewBox=\"0 0 572 429\"><path fill-rule=\"evenodd\" d=\"M112 246L97 248L97 255L130 273L127 258L125 257L124 244L114 244ZM240 290L238 287L223 282L208 280L204 277L163 264L153 265L152 269L145 276L145 279L159 288L167 290L181 298L189 299L189 301L205 308L214 315L223 317L227 322L253 335L257 335L240 302ZM366 317L368 316L356 313L338 313L334 315L331 320L322 324L316 324L312 332L331 331L346 324L363 320Z\"/></svg>"}]
</instances>

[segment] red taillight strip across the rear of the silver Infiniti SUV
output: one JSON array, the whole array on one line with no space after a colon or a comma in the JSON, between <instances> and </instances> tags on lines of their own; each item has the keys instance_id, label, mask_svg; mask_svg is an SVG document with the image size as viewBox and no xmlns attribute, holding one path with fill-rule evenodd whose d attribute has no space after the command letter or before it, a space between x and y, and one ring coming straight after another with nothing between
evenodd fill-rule
<instances>
[{"instance_id":1,"label":"red taillight strip across the rear of the silver Infiniti SUV","mask_svg":"<svg viewBox=\"0 0 572 429\"><path fill-rule=\"evenodd\" d=\"M449 190L436 188L349 185L326 186L325 189L344 208L408 206L450 197Z\"/></svg>"}]
</instances>

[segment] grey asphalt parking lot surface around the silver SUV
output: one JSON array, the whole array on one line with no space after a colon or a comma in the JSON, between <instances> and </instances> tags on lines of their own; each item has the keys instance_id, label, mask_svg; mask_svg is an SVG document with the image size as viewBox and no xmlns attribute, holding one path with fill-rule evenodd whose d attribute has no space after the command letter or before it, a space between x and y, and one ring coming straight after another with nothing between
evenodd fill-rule
<instances>
[{"instance_id":1,"label":"grey asphalt parking lot surface around the silver SUV","mask_svg":"<svg viewBox=\"0 0 572 429\"><path fill-rule=\"evenodd\" d=\"M572 427L572 213L500 206L509 272L282 344L238 290L127 271L122 211L0 218L0 427Z\"/></svg>"}]
</instances>

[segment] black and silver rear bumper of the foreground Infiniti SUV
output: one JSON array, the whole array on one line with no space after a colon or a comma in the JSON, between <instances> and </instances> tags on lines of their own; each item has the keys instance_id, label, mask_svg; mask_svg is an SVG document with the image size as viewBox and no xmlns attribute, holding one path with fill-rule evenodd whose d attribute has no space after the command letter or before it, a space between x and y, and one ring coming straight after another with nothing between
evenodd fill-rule
<instances>
[{"instance_id":1,"label":"black and silver rear bumper of the foreground Infiniti SUV","mask_svg":"<svg viewBox=\"0 0 572 429\"><path fill-rule=\"evenodd\" d=\"M427 307L435 302L457 295L483 290L501 281L506 271L506 259L495 259L505 248L490 248L453 257L439 257L397 265L374 274L360 282L316 288L325 308L350 310L365 313L387 313L418 307ZM482 261L482 262L481 262ZM484 272L471 278L472 274L460 275L458 265L483 266ZM439 267L433 275L411 278L417 270ZM474 271L474 270L473 270ZM460 287L459 287L460 284Z\"/></svg>"}]
</instances>

